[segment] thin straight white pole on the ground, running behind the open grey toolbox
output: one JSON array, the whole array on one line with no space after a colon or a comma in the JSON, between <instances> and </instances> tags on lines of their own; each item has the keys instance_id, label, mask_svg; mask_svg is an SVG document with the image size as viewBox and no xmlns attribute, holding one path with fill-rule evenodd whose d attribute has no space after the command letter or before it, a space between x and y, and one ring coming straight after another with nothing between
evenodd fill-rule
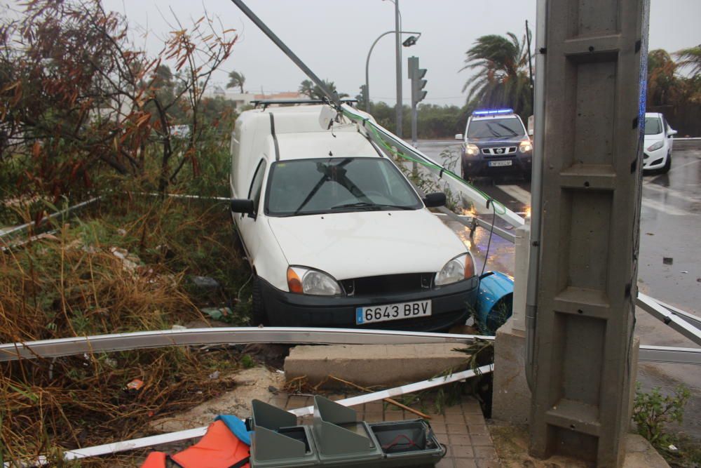
<instances>
[{"instance_id":1,"label":"thin straight white pole on the ground, running behind the open grey toolbox","mask_svg":"<svg viewBox=\"0 0 701 468\"><path fill-rule=\"evenodd\" d=\"M453 382L459 382L461 380L466 380L470 377L475 377L475 375L482 375L491 373L494 370L493 365L482 366L476 370L463 370L462 372L456 372L445 377L434 377L433 379L422 380L421 382L415 382L409 385L402 385L401 387L395 387L391 389L381 390L379 392L369 393L365 395L352 396L351 398L346 398L343 400L336 401L343 406L355 406L362 403L370 403L371 401L378 401L386 398L392 398L394 396L401 396L404 394L409 394L413 392L420 392L421 390L430 389L433 387L440 387L441 385L447 385ZM311 415L314 413L313 406L306 406L304 408L297 408L290 410L290 413L297 415L298 417ZM111 453L125 452L127 450L135 450L137 448L151 447L155 445L160 445L162 443L170 443L177 441L185 441L188 439L194 439L196 437L201 437L207 432L207 426L196 427L195 429L186 429L184 431L170 432L168 434L158 434L157 436L142 437L140 439L131 439L129 441L119 441L112 443L105 443L101 446L93 446L86 448L79 448L76 450L67 450L64 452L64 460L79 460L87 457L97 457L99 455L109 455ZM31 464L43 465L47 464L48 461L46 457L38 457ZM27 466L20 462L20 466ZM12 467L11 462L6 462L5 467Z\"/></svg>"}]
</instances>

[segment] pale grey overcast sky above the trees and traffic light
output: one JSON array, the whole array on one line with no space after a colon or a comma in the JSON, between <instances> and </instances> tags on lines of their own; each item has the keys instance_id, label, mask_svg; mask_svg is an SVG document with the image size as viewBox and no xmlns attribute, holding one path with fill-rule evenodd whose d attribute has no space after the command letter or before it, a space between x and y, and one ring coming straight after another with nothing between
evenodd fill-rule
<instances>
[{"instance_id":1,"label":"pale grey overcast sky above the trees and traffic light","mask_svg":"<svg viewBox=\"0 0 701 468\"><path fill-rule=\"evenodd\" d=\"M465 51L484 34L524 34L524 21L535 25L536 0L398 0L402 29L422 33L416 46L402 48L404 102L409 100L407 57L416 55L428 69L426 102L463 105L470 73L459 72ZM306 78L259 29L228 0L103 0L105 8L124 13L130 25L148 30L147 50L158 50L170 31L172 13L187 24L204 8L240 35L215 83L226 74L245 74L245 90L296 91ZM299 55L320 78L355 96L365 82L365 60L372 42L394 29L394 5L388 0L247 0L246 4ZM650 49L677 51L701 44L701 0L651 0ZM171 21L172 22L172 21ZM137 41L144 43L143 37ZM370 97L395 102L393 34L380 39L370 60Z\"/></svg>"}]
</instances>

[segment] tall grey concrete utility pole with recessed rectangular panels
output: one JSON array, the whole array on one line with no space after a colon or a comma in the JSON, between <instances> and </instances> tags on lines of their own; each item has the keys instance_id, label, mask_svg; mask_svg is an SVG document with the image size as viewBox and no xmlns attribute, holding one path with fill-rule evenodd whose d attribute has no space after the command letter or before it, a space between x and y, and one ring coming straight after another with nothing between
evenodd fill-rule
<instances>
[{"instance_id":1,"label":"tall grey concrete utility pole with recessed rectangular panels","mask_svg":"<svg viewBox=\"0 0 701 468\"><path fill-rule=\"evenodd\" d=\"M531 453L620 467L636 366L648 0L545 2ZM540 11L540 8L539 8ZM642 67L642 68L641 68ZM534 239L536 240L536 239ZM536 261L536 259L533 259Z\"/></svg>"}]
</instances>

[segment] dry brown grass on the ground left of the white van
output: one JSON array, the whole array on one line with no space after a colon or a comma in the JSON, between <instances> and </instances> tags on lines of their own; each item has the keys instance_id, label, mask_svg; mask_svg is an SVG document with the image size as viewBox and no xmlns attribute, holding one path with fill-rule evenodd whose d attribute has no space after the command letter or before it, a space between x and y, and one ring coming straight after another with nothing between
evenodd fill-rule
<instances>
[{"instance_id":1,"label":"dry brown grass on the ground left of the white van","mask_svg":"<svg viewBox=\"0 0 701 468\"><path fill-rule=\"evenodd\" d=\"M205 321L202 301L231 303L247 279L221 206L121 197L100 211L0 255L0 342ZM214 276L222 291L196 297L188 274ZM243 323L245 307L234 308ZM151 417L231 386L208 375L232 362L229 351L166 348L1 364L0 458L140 434ZM134 379L144 386L126 390Z\"/></svg>"}]
</instances>

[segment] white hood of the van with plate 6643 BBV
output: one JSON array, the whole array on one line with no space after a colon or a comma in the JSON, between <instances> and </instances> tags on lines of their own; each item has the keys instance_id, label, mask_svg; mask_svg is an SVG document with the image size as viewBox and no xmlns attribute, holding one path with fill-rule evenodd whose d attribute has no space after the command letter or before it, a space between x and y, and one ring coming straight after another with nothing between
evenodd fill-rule
<instances>
[{"instance_id":1,"label":"white hood of the van with plate 6643 BBV","mask_svg":"<svg viewBox=\"0 0 701 468\"><path fill-rule=\"evenodd\" d=\"M426 209L267 218L290 265L337 280L439 272L467 248Z\"/></svg>"}]
</instances>

